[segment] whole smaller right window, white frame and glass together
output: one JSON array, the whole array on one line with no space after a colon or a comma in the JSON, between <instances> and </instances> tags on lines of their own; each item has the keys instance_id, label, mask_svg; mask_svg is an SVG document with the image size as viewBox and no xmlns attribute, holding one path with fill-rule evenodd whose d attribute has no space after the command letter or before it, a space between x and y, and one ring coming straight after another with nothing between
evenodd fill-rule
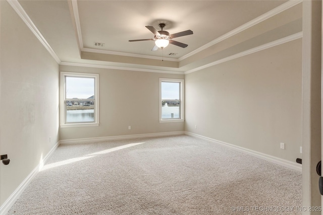
<instances>
[{"instance_id":1,"label":"whole smaller right window, white frame and glass together","mask_svg":"<svg viewBox=\"0 0 323 215\"><path fill-rule=\"evenodd\" d=\"M184 121L184 80L159 79L159 121Z\"/></svg>"}]
</instances>

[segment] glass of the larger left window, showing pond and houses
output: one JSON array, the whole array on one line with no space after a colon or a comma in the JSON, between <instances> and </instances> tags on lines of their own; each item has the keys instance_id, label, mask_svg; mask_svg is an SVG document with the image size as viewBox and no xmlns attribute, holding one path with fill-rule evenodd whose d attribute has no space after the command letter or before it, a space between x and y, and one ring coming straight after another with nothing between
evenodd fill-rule
<instances>
[{"instance_id":1,"label":"glass of the larger left window, showing pond and houses","mask_svg":"<svg viewBox=\"0 0 323 215\"><path fill-rule=\"evenodd\" d=\"M94 78L66 77L66 122L94 122Z\"/></svg>"}]
</instances>

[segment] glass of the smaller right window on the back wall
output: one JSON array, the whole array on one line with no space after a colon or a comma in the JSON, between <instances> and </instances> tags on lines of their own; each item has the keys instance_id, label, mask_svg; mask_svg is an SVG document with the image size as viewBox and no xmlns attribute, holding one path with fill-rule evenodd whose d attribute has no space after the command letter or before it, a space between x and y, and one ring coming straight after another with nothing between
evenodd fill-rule
<instances>
[{"instance_id":1,"label":"glass of the smaller right window on the back wall","mask_svg":"<svg viewBox=\"0 0 323 215\"><path fill-rule=\"evenodd\" d=\"M161 82L161 118L181 118L180 105L180 83Z\"/></svg>"}]
</instances>

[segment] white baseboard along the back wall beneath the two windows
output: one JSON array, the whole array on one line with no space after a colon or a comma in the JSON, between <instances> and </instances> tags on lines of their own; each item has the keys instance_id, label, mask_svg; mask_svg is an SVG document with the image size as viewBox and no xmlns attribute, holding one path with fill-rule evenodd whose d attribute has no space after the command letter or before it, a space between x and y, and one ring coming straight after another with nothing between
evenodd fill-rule
<instances>
[{"instance_id":1,"label":"white baseboard along the back wall beneath the two windows","mask_svg":"<svg viewBox=\"0 0 323 215\"><path fill-rule=\"evenodd\" d=\"M134 138L157 137L157 136L172 136L172 135L182 135L182 134L184 134L184 131L132 134L132 135L120 135L120 136L103 136L103 137L80 138L80 139L63 139L60 141L60 144L84 144L87 142L98 142L98 141L117 140L117 139L134 139Z\"/></svg>"}]
</instances>

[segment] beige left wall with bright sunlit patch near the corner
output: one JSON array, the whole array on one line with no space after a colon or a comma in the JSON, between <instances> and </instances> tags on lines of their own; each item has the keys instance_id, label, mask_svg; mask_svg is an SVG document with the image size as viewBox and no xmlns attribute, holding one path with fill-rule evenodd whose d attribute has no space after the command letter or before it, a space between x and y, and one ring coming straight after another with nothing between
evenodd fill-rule
<instances>
[{"instance_id":1,"label":"beige left wall with bright sunlit patch near the corner","mask_svg":"<svg viewBox=\"0 0 323 215\"><path fill-rule=\"evenodd\" d=\"M1 2L1 205L59 141L59 65ZM51 141L49 142L49 137Z\"/></svg>"}]
</instances>

